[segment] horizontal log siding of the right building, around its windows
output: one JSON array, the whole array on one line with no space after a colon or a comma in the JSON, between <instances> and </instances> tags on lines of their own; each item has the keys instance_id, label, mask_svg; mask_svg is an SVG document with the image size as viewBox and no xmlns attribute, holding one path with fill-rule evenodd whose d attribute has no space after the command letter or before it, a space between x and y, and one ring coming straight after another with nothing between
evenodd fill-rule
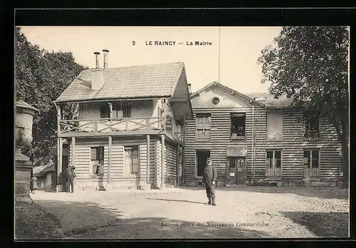
<instances>
[{"instance_id":1,"label":"horizontal log siding of the right building, around its windows","mask_svg":"<svg viewBox=\"0 0 356 248\"><path fill-rule=\"evenodd\" d=\"M196 139L197 113L211 114L210 140ZM246 139L230 140L230 113L246 113ZM255 146L253 156L253 121L255 120ZM266 112L264 108L194 108L194 120L187 120L185 181L194 185L197 177L196 150L210 150L211 158L218 170L218 180L224 182L227 172L226 148L229 145L246 145L247 180L266 180L266 150L281 150L282 165L280 180L303 180L303 150L320 151L320 180L339 180L340 143L335 128L325 118L320 118L320 139L304 140L304 126L298 121L302 113L294 110L283 111L283 140L266 140ZM253 163L254 161L254 163ZM254 166L253 166L254 164ZM276 175L276 173L273 173ZM277 173L278 175L278 173ZM273 178L276 179L276 178Z\"/></svg>"}]
</instances>

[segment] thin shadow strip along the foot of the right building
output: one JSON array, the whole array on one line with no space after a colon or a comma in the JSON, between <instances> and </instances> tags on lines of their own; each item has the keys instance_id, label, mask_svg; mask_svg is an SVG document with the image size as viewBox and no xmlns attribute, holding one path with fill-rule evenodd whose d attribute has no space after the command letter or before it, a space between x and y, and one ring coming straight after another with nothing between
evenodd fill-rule
<instances>
[{"instance_id":1,"label":"thin shadow strip along the foot of the right building","mask_svg":"<svg viewBox=\"0 0 356 248\"><path fill-rule=\"evenodd\" d=\"M204 187L181 187L184 190L204 190ZM318 197L326 199L348 199L348 189L340 187L298 187L298 186L246 186L237 185L229 187L216 187L216 191L236 191L236 192L259 192L259 193L281 193L296 194L304 197Z\"/></svg>"}]
</instances>

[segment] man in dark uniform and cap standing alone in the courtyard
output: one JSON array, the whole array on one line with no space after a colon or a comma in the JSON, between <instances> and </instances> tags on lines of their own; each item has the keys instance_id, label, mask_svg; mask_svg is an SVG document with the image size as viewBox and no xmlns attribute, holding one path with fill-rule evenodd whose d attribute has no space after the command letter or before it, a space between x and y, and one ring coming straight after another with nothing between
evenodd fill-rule
<instances>
[{"instance_id":1,"label":"man in dark uniform and cap standing alone in the courtyard","mask_svg":"<svg viewBox=\"0 0 356 248\"><path fill-rule=\"evenodd\" d=\"M217 177L216 167L212 165L211 158L208 157L206 159L206 167L204 168L203 173L203 183L206 190L206 197L208 197L209 205L216 206L215 202L215 185L216 185L216 177Z\"/></svg>"}]
</instances>

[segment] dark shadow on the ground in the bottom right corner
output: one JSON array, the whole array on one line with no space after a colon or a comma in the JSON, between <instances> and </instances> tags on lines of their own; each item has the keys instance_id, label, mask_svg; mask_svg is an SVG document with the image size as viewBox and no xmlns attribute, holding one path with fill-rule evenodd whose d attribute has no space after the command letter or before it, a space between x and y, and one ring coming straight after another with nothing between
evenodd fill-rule
<instances>
[{"instance_id":1,"label":"dark shadow on the ground in the bottom right corner","mask_svg":"<svg viewBox=\"0 0 356 248\"><path fill-rule=\"evenodd\" d=\"M317 237L348 237L347 212L281 212L281 214L307 227Z\"/></svg>"}]
</instances>

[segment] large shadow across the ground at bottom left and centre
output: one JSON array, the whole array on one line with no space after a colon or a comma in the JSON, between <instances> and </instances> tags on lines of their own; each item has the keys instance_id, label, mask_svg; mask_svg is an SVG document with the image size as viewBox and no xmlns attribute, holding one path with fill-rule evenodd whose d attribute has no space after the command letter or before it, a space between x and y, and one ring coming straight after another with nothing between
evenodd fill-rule
<instances>
[{"instance_id":1,"label":"large shadow across the ground at bottom left and centre","mask_svg":"<svg viewBox=\"0 0 356 248\"><path fill-rule=\"evenodd\" d=\"M157 199L155 199L157 200ZM201 203L201 202L197 202ZM130 218L93 202L37 200L61 220L64 239L219 239L266 238L268 227L237 227L226 223L184 222L162 217ZM142 206L144 207L144 206ZM188 210L187 210L188 211ZM209 217L206 217L209 220ZM31 237L30 237L31 239Z\"/></svg>"}]
</instances>

